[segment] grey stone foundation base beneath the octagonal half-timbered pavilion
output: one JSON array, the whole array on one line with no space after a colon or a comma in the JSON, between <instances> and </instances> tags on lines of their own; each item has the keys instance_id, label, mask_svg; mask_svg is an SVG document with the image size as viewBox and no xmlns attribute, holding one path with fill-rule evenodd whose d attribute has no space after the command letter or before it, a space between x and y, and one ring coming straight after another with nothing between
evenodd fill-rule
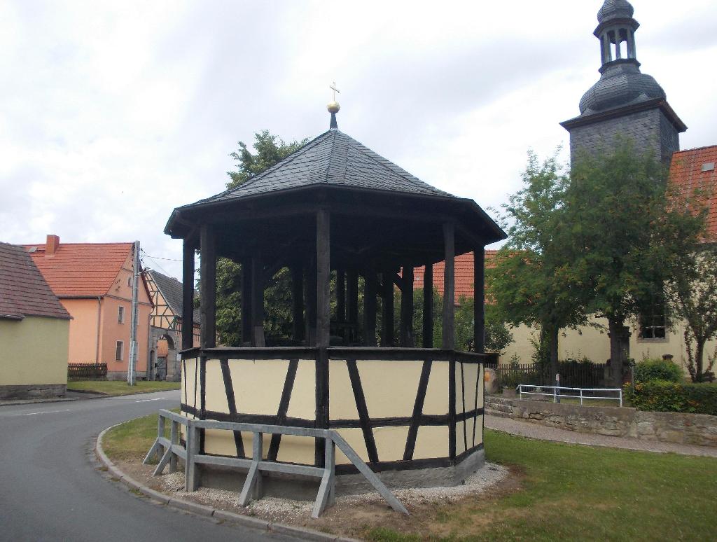
<instances>
[{"instance_id":1,"label":"grey stone foundation base beneath the octagonal half-timbered pavilion","mask_svg":"<svg viewBox=\"0 0 717 542\"><path fill-rule=\"evenodd\" d=\"M407 488L436 488L460 485L485 465L485 452L475 450L457 465L378 472L381 481L390 490ZM244 470L200 465L201 485L240 492L247 473ZM294 500L314 500L320 479L282 472L262 472L264 495ZM361 474L337 474L336 495L355 495L374 488Z\"/></svg>"}]
</instances>

